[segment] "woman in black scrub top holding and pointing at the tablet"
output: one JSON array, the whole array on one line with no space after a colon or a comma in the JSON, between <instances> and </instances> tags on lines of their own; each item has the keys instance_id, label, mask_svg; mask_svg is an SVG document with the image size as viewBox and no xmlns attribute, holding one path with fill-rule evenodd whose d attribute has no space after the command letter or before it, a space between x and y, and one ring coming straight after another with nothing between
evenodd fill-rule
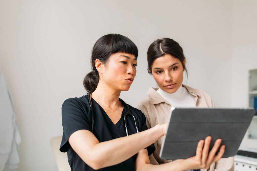
<instances>
[{"instance_id":1,"label":"woman in black scrub top holding and pointing at the tablet","mask_svg":"<svg viewBox=\"0 0 257 171\"><path fill-rule=\"evenodd\" d=\"M91 94L92 115L88 94L67 99L62 105L63 136L60 151L68 153L71 170L186 170L208 168L220 159L224 149L216 151L217 140L209 151L209 138L201 140L196 156L163 165L151 165L149 155L155 150L153 142L165 134L167 124L146 127L144 114L129 106L138 122L136 133L133 117L127 116L126 136L125 103L119 99L121 91L128 91L136 76L136 45L127 37L108 34L97 40L93 47L92 72L84 79L84 87ZM145 148L147 147L147 148Z\"/></svg>"}]
</instances>

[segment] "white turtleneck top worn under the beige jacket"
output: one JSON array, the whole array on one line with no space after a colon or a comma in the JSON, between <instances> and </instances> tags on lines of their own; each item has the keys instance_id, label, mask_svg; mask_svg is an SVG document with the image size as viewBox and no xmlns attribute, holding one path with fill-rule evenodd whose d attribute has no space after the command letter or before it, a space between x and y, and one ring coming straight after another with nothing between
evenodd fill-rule
<instances>
[{"instance_id":1,"label":"white turtleneck top worn under the beige jacket","mask_svg":"<svg viewBox=\"0 0 257 171\"><path fill-rule=\"evenodd\" d=\"M194 96L185 87L180 86L175 93L167 93L160 88L157 92L173 107L196 107Z\"/></svg>"}]
</instances>

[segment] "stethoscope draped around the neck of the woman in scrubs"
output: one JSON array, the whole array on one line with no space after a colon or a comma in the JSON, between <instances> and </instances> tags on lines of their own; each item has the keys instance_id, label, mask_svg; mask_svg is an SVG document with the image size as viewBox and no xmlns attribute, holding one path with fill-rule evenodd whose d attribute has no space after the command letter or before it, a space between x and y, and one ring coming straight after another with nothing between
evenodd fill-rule
<instances>
[{"instance_id":1,"label":"stethoscope draped around the neck of the woman in scrubs","mask_svg":"<svg viewBox=\"0 0 257 171\"><path fill-rule=\"evenodd\" d=\"M93 105L92 105L92 101L91 101L91 94L93 93L93 91L89 92L88 93L88 101L89 101L89 104L90 104L90 108L91 108L91 119L92 119L92 132L94 130L94 112L93 112ZM126 129L126 134L128 136L128 126L127 126L127 115L131 115L133 118L134 118L134 121L135 121L135 126L136 126L136 132L138 133L138 125L137 125L137 119L135 117L135 115L133 115L131 112L130 112L130 109L127 105L127 103L125 103L123 100L120 99L120 101L122 102L122 104L126 107L127 109L127 113L124 114L124 121L125 121L125 129Z\"/></svg>"}]
</instances>

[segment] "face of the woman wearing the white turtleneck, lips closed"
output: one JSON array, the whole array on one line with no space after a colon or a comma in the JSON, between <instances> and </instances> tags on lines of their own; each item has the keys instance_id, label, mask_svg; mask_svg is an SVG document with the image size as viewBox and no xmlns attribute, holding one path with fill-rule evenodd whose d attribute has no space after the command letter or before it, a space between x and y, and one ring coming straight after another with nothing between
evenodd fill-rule
<instances>
[{"instance_id":1,"label":"face of the woman wearing the white turtleneck, lips closed","mask_svg":"<svg viewBox=\"0 0 257 171\"><path fill-rule=\"evenodd\" d=\"M185 62L185 60L184 60ZM152 75L157 85L167 93L175 93L183 82L183 65L170 54L153 61Z\"/></svg>"}]
</instances>

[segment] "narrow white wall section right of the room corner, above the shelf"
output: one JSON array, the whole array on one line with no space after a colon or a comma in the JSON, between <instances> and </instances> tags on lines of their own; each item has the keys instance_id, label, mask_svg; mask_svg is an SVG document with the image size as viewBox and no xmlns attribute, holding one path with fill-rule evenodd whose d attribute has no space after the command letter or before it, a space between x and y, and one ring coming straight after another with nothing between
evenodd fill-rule
<instances>
[{"instance_id":1,"label":"narrow white wall section right of the room corner, above the shelf","mask_svg":"<svg viewBox=\"0 0 257 171\"><path fill-rule=\"evenodd\" d=\"M248 107L248 72L257 69L257 1L233 1L231 105Z\"/></svg>"}]
</instances>

